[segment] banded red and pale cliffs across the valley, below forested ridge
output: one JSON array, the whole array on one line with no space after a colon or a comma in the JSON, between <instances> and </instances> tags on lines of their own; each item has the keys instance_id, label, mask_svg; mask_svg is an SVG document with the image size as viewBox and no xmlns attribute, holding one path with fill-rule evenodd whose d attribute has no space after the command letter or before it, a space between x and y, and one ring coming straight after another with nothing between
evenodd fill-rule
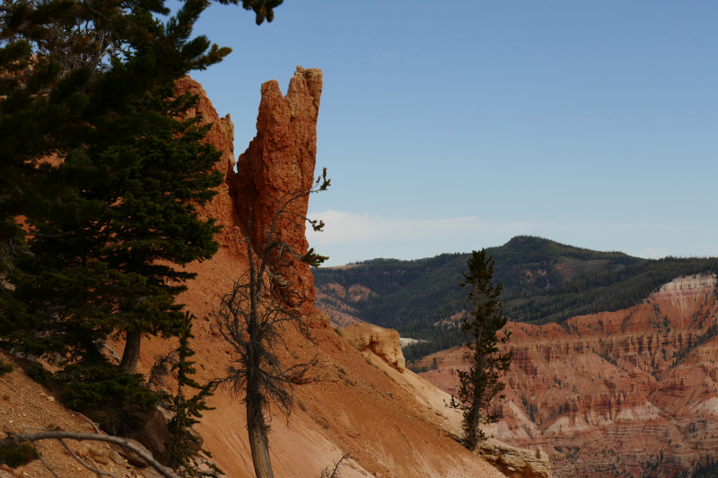
<instances>
[{"instance_id":1,"label":"banded red and pale cliffs across the valley, below forested ridge","mask_svg":"<svg viewBox=\"0 0 718 478\"><path fill-rule=\"evenodd\" d=\"M626 310L564 326L510 323L512 371L496 437L541 448L554 476L672 476L718 457L715 275L665 284ZM464 351L421 374L456 393Z\"/></svg>"}]
</instances>

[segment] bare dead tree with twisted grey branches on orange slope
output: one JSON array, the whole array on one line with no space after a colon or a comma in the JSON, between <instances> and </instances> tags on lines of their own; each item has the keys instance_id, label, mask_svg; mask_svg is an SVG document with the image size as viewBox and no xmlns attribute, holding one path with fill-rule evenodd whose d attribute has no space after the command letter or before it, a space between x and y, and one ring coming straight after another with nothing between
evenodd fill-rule
<instances>
[{"instance_id":1,"label":"bare dead tree with twisted grey branches on orange slope","mask_svg":"<svg viewBox=\"0 0 718 478\"><path fill-rule=\"evenodd\" d=\"M277 355L279 347L286 349L283 334L287 326L295 327L307 337L310 335L302 313L306 291L297 287L293 271L300 262L318 266L328 259L316 254L313 248L302 255L277 239L277 232L279 228L299 226L303 222L309 222L314 230L321 230L323 222L311 221L297 213L295 205L312 193L325 191L328 186L325 168L313 187L282 196L276 203L273 221L258 235L261 239L257 243L252 241L250 210L247 235L239 239L247 249L249 271L234 282L232 291L219 298L219 305L213 311L217 329L233 349L232 365L221 383L246 405L257 478L274 478L267 439L270 406L289 420L294 404L293 383L302 380L314 363L286 367Z\"/></svg>"}]
</instances>

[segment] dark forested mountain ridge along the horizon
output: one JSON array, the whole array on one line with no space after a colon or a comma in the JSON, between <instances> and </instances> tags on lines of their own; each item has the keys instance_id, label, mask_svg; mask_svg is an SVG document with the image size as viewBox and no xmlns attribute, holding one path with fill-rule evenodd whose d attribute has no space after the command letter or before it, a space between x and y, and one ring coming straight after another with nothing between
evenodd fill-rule
<instances>
[{"instance_id":1,"label":"dark forested mountain ridge along the horizon","mask_svg":"<svg viewBox=\"0 0 718 478\"><path fill-rule=\"evenodd\" d=\"M534 325L628 309L677 277L718 272L718 258L643 259L530 236L486 250L496 262L495 280L503 283L504 312ZM468 256L313 269L316 305L338 325L369 322L425 341L405 349L407 362L414 361L465 340L456 324L465 310L459 283Z\"/></svg>"}]
</instances>

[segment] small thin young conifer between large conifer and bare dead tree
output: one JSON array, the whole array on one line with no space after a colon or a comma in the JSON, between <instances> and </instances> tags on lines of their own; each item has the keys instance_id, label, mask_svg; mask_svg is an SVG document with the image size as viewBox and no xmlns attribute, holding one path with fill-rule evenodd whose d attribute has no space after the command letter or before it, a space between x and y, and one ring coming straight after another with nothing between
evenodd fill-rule
<instances>
[{"instance_id":1,"label":"small thin young conifer between large conifer and bare dead tree","mask_svg":"<svg viewBox=\"0 0 718 478\"><path fill-rule=\"evenodd\" d=\"M197 373L194 368L194 361L188 359L195 352L189 347L189 342L194 338L192 335L192 319L194 317L185 314L182 321L180 333L180 347L177 349L177 361L172 365L177 370L177 395L172 398L171 411L175 416L169 423L171 441L167 444L172 456L171 467L182 477L216 476L223 474L216 465L209 464L210 471L199 470L199 463L205 458L211 458L209 451L200 448L199 440L191 433L191 427L202 418L202 412L214 410L206 404L206 399L214 395L215 382L209 381L206 385L199 385L197 380L192 378ZM188 397L187 389L194 388L198 392Z\"/></svg>"}]
</instances>

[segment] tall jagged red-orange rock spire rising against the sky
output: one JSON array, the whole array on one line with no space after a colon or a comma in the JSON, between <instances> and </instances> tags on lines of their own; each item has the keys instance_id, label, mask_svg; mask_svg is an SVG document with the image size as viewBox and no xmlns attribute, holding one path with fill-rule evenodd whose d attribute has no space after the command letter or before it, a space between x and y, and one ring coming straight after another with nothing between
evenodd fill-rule
<instances>
[{"instance_id":1,"label":"tall jagged red-orange rock spire rising against the sky","mask_svg":"<svg viewBox=\"0 0 718 478\"><path fill-rule=\"evenodd\" d=\"M276 80L262 85L257 135L237 161L237 174L228 181L240 228L247 234L251 218L256 244L266 238L285 195L308 190L314 182L322 81L319 68L297 66L286 96ZM303 216L308 205L309 196L301 196L288 204L288 211ZM299 216L285 218L276 225L276 239L305 254L309 248L305 226ZM309 265L297 265L293 275L297 289L306 291L311 304L314 279Z\"/></svg>"}]
</instances>

